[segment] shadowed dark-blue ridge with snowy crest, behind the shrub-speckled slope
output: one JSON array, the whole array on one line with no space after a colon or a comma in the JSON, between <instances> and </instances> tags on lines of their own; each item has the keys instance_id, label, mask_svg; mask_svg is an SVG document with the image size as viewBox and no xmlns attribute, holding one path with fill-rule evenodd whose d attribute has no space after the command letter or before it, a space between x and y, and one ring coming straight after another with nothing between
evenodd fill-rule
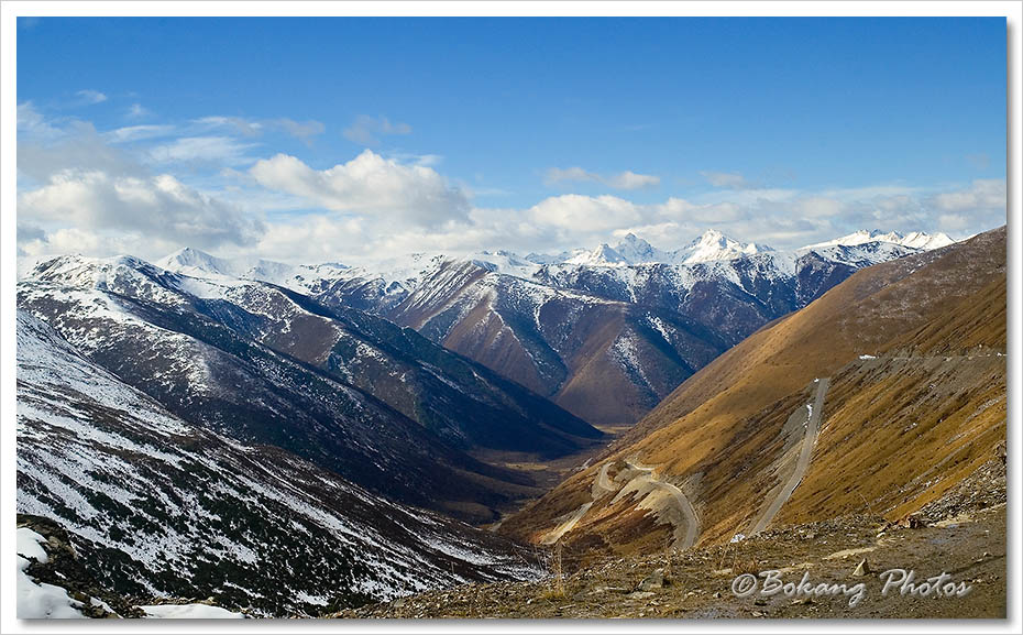
<instances>
[{"instance_id":1,"label":"shadowed dark-blue ridge with snowy crest, behind the shrub-speckled slope","mask_svg":"<svg viewBox=\"0 0 1023 635\"><path fill-rule=\"evenodd\" d=\"M601 436L415 331L255 281L65 256L19 283L18 300L195 425L465 519L536 493L473 449L563 456Z\"/></svg>"}]
</instances>

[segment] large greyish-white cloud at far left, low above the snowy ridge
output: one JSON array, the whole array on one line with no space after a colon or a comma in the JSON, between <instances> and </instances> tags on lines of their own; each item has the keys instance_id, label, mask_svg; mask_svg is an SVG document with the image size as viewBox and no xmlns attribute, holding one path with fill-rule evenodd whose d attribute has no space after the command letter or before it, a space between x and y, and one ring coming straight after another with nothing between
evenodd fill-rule
<instances>
[{"instance_id":1,"label":"large greyish-white cloud at far left, low above the snowy ridge","mask_svg":"<svg viewBox=\"0 0 1023 635\"><path fill-rule=\"evenodd\" d=\"M46 239L32 238L51 245L58 237L69 236L68 230L97 240L113 232L208 249L224 243L252 245L264 231L262 221L169 174L140 178L100 171L62 171L46 185L19 195L18 216L37 227L55 227ZM61 230L65 230L63 234ZM89 247L82 243L79 249ZM136 247L150 251L144 243Z\"/></svg>"}]
</instances>

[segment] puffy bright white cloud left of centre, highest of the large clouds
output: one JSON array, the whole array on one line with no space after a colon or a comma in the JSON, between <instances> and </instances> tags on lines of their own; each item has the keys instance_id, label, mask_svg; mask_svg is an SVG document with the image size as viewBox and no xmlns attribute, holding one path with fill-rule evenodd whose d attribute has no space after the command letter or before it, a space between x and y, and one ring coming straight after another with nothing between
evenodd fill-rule
<instances>
[{"instance_id":1,"label":"puffy bright white cloud left of centre, highest of the large clouds","mask_svg":"<svg viewBox=\"0 0 1023 635\"><path fill-rule=\"evenodd\" d=\"M464 220L470 209L465 195L431 167L405 165L371 150L323 171L277 154L257 161L250 174L263 187L300 196L317 207L421 227Z\"/></svg>"}]
</instances>

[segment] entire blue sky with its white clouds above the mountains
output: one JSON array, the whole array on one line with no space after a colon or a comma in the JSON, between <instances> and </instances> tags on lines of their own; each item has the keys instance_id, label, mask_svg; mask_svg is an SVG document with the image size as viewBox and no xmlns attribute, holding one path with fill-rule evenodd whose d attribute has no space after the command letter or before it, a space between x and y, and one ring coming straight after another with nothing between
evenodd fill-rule
<instances>
[{"instance_id":1,"label":"entire blue sky with its white clouds above the mountains","mask_svg":"<svg viewBox=\"0 0 1023 635\"><path fill-rule=\"evenodd\" d=\"M22 19L19 242L964 237L1004 222L1005 72L1003 19Z\"/></svg>"}]
</instances>

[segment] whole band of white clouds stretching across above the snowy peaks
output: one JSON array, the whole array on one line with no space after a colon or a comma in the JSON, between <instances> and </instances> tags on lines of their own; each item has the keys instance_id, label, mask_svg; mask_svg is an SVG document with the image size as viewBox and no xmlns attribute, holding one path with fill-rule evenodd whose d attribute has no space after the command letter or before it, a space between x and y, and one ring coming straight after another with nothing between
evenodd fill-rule
<instances>
[{"instance_id":1,"label":"whole band of white clouds stretching across above the snowy peaks","mask_svg":"<svg viewBox=\"0 0 1023 635\"><path fill-rule=\"evenodd\" d=\"M374 121L377 132L404 130ZM550 253L613 242L629 231L673 249L708 227L779 249L857 229L961 238L1005 219L1005 185L992 179L944 188L897 184L805 191L754 187L727 178L740 175L715 173L726 176L715 177L721 187L685 198L651 202L561 193L480 208L468 186L439 172L438 155L365 150L326 169L288 154L256 160L271 131L309 140L323 130L314 121L211 117L98 133L87 122L48 120L23 102L19 253L157 258L195 245L223 255L358 264L411 251ZM582 167L547 176L558 184L620 189L658 183L631 171L608 175Z\"/></svg>"}]
</instances>

